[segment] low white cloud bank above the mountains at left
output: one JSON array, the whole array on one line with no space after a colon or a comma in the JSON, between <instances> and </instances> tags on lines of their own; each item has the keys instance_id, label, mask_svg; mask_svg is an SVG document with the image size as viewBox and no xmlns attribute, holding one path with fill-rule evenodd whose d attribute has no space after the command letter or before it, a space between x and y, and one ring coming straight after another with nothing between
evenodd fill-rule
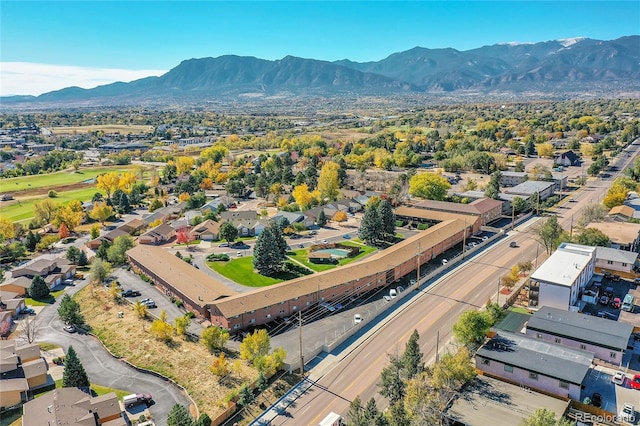
<instances>
[{"instance_id":1,"label":"low white cloud bank above the mountains at left","mask_svg":"<svg viewBox=\"0 0 640 426\"><path fill-rule=\"evenodd\" d=\"M116 81L129 82L160 76L166 70L124 70L31 62L0 62L0 96L41 95L52 90L78 86L90 89Z\"/></svg>"}]
</instances>

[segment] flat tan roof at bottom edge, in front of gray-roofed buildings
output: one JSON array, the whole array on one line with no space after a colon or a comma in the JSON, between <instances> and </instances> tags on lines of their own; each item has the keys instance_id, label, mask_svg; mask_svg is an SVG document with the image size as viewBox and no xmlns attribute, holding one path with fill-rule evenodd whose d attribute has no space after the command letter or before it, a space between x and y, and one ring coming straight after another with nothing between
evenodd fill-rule
<instances>
[{"instance_id":1,"label":"flat tan roof at bottom edge, in front of gray-roofed buildings","mask_svg":"<svg viewBox=\"0 0 640 426\"><path fill-rule=\"evenodd\" d=\"M560 418L569 409L569 401L520 384L476 376L456 393L443 416L449 421L445 424L457 426L514 426L522 424L538 408Z\"/></svg>"}]
</instances>

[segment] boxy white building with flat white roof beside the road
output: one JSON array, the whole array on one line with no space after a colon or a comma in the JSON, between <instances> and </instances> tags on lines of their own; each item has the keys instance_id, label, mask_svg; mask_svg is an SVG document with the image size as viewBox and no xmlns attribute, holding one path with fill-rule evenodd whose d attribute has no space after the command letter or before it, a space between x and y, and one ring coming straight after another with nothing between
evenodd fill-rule
<instances>
[{"instance_id":1,"label":"boxy white building with flat white roof beside the road","mask_svg":"<svg viewBox=\"0 0 640 426\"><path fill-rule=\"evenodd\" d=\"M595 247L562 243L530 276L529 307L576 306L594 274Z\"/></svg>"}]
</instances>

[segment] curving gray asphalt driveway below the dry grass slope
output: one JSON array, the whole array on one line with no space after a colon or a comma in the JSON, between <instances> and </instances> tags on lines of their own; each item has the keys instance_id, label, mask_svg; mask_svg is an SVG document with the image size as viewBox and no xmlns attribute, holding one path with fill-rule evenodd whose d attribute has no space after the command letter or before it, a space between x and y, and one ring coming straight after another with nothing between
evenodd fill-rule
<instances>
[{"instance_id":1,"label":"curving gray asphalt driveway below the dry grass slope","mask_svg":"<svg viewBox=\"0 0 640 426\"><path fill-rule=\"evenodd\" d=\"M76 283L76 287L67 288L69 294L80 290L87 284L87 280L79 280ZM113 358L98 339L62 331L63 323L57 315L60 299L59 297L53 305L44 307L38 313L37 319L41 324L38 342L60 345L65 352L73 345L92 383L131 393L144 392L153 395L155 404L149 407L149 410L156 425L167 424L169 411L176 403L189 405L187 397L176 386L151 374L141 373Z\"/></svg>"}]
</instances>

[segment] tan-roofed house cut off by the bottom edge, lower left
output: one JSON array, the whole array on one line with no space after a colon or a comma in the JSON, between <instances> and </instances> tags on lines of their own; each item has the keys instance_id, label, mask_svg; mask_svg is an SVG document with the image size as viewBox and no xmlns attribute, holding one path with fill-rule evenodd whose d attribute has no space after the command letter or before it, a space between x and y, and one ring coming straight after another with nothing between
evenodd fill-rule
<instances>
[{"instance_id":1,"label":"tan-roofed house cut off by the bottom edge, lower left","mask_svg":"<svg viewBox=\"0 0 640 426\"><path fill-rule=\"evenodd\" d=\"M127 425L115 392L92 397L78 388L54 389L22 409L23 425Z\"/></svg>"}]
</instances>

